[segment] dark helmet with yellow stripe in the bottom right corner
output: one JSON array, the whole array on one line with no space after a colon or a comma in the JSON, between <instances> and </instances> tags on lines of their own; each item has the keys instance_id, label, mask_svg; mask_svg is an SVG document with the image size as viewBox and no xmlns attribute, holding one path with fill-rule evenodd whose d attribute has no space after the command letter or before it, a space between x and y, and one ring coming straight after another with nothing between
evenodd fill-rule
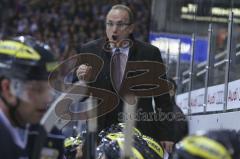
<instances>
[{"instance_id":1,"label":"dark helmet with yellow stripe in the bottom right corner","mask_svg":"<svg viewBox=\"0 0 240 159\"><path fill-rule=\"evenodd\" d=\"M238 159L240 139L235 131L215 130L192 135L176 144L174 159Z\"/></svg>"}]
</instances>

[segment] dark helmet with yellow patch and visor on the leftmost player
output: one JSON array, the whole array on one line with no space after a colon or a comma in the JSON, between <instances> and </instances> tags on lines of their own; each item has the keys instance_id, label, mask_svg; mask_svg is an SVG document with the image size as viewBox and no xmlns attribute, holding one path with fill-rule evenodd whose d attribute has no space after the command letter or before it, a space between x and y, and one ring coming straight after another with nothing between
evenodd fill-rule
<instances>
[{"instance_id":1,"label":"dark helmet with yellow patch and visor on the leftmost player","mask_svg":"<svg viewBox=\"0 0 240 159\"><path fill-rule=\"evenodd\" d=\"M49 46L31 36L0 41L0 75L21 80L47 80L56 66Z\"/></svg>"}]
</instances>

